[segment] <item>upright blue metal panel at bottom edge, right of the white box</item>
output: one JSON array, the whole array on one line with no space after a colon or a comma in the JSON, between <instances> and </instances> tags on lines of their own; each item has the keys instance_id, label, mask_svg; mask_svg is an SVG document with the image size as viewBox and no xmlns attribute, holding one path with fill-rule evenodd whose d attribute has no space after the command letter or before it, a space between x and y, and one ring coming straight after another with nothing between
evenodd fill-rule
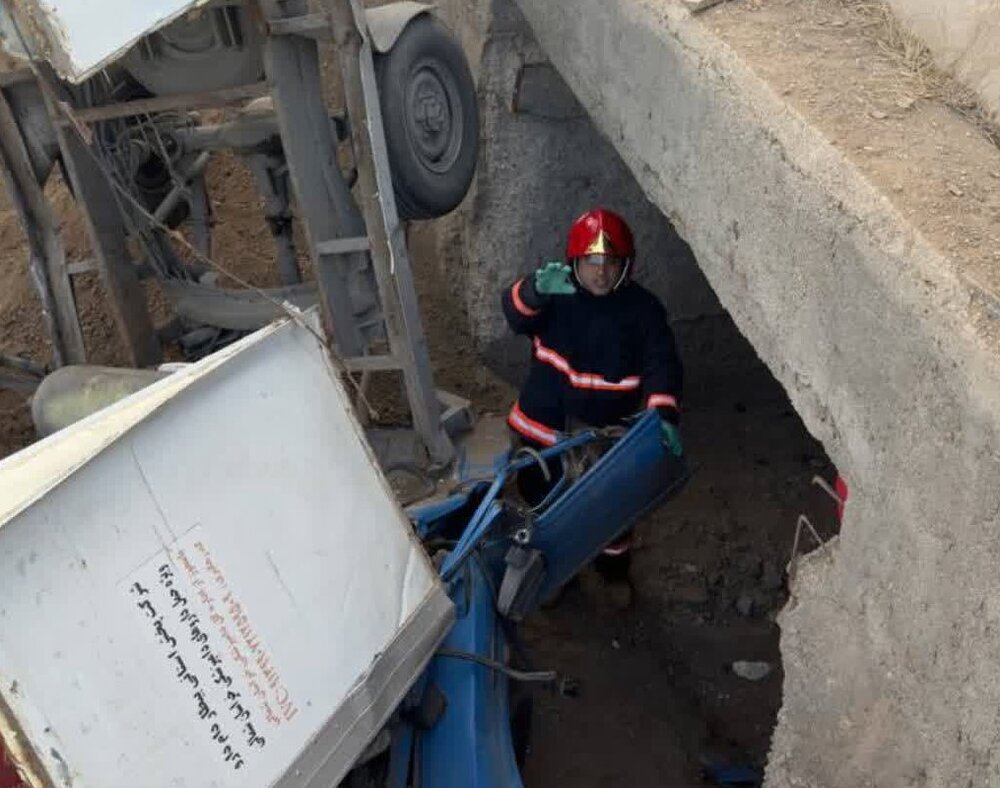
<instances>
[{"instance_id":1,"label":"upright blue metal panel at bottom edge, right of the white box","mask_svg":"<svg viewBox=\"0 0 1000 788\"><path fill-rule=\"evenodd\" d=\"M505 663L506 640L493 591L478 561L465 562L451 596L458 606L458 619L442 648ZM428 679L444 692L448 707L433 728L420 734L420 784L428 788L520 788L507 677L474 662L436 656Z\"/></svg>"}]
</instances>

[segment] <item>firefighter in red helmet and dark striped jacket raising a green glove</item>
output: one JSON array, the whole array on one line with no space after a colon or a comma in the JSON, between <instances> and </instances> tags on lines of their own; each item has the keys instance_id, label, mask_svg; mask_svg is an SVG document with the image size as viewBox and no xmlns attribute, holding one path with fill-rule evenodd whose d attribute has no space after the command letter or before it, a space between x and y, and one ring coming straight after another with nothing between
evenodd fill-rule
<instances>
[{"instance_id":1,"label":"firefighter in red helmet and dark striped jacket raising a green glove","mask_svg":"<svg viewBox=\"0 0 1000 788\"><path fill-rule=\"evenodd\" d=\"M683 451L678 423L683 371L667 312L632 280L635 246L618 214L597 208L573 222L566 262L549 262L503 292L503 311L531 339L528 379L507 417L522 445L556 443L572 425L605 427L655 409L664 443ZM519 479L536 503L558 477L534 466ZM606 579L622 579L630 535L609 545L597 563Z\"/></svg>"}]
</instances>

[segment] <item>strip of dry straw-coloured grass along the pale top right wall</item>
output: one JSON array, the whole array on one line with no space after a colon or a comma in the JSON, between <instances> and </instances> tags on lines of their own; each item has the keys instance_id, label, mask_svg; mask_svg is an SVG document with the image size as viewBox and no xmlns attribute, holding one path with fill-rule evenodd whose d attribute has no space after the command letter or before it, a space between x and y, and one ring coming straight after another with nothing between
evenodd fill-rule
<instances>
[{"instance_id":1,"label":"strip of dry straw-coloured grass along the pale top right wall","mask_svg":"<svg viewBox=\"0 0 1000 788\"><path fill-rule=\"evenodd\" d=\"M871 35L882 53L899 69L901 94L937 99L975 123L1000 148L1000 126L983 109L973 90L944 73L927 45L879 0L839 0L857 24Z\"/></svg>"}]
</instances>

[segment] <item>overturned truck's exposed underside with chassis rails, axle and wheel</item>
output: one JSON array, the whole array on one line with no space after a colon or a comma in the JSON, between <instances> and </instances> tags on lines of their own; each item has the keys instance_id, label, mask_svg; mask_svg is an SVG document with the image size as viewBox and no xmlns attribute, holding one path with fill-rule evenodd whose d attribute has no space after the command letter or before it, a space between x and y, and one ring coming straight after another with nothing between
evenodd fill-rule
<instances>
[{"instance_id":1,"label":"overturned truck's exposed underside with chassis rails, axle and wheel","mask_svg":"<svg viewBox=\"0 0 1000 788\"><path fill-rule=\"evenodd\" d=\"M366 382L402 373L414 428L447 460L441 417L455 401L433 387L403 221L463 198L478 116L462 50L429 12L349 0L5 3L0 39L15 65L0 73L0 174L52 354L0 356L0 382L30 387L52 367L86 363L81 272L101 274L137 367L157 365L164 342L197 360L285 305L319 304L346 371ZM320 67L327 46L340 65L333 85ZM330 93L341 106L328 106ZM253 173L280 287L248 287L212 258L205 172L218 151ZM67 259L46 201L56 167L85 220L85 260ZM296 225L315 281L304 281ZM153 325L147 281L171 305L167 325Z\"/></svg>"}]
</instances>

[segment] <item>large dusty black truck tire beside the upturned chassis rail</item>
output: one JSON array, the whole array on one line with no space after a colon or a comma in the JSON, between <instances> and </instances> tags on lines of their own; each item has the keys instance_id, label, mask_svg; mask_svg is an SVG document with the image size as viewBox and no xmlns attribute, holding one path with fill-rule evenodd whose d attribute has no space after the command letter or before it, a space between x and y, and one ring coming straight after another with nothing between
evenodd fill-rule
<instances>
[{"instance_id":1,"label":"large dusty black truck tire beside the upturned chassis rail","mask_svg":"<svg viewBox=\"0 0 1000 788\"><path fill-rule=\"evenodd\" d=\"M468 192L479 153L465 53L441 22L422 14L376 56L375 68L399 214L444 216Z\"/></svg>"}]
</instances>

